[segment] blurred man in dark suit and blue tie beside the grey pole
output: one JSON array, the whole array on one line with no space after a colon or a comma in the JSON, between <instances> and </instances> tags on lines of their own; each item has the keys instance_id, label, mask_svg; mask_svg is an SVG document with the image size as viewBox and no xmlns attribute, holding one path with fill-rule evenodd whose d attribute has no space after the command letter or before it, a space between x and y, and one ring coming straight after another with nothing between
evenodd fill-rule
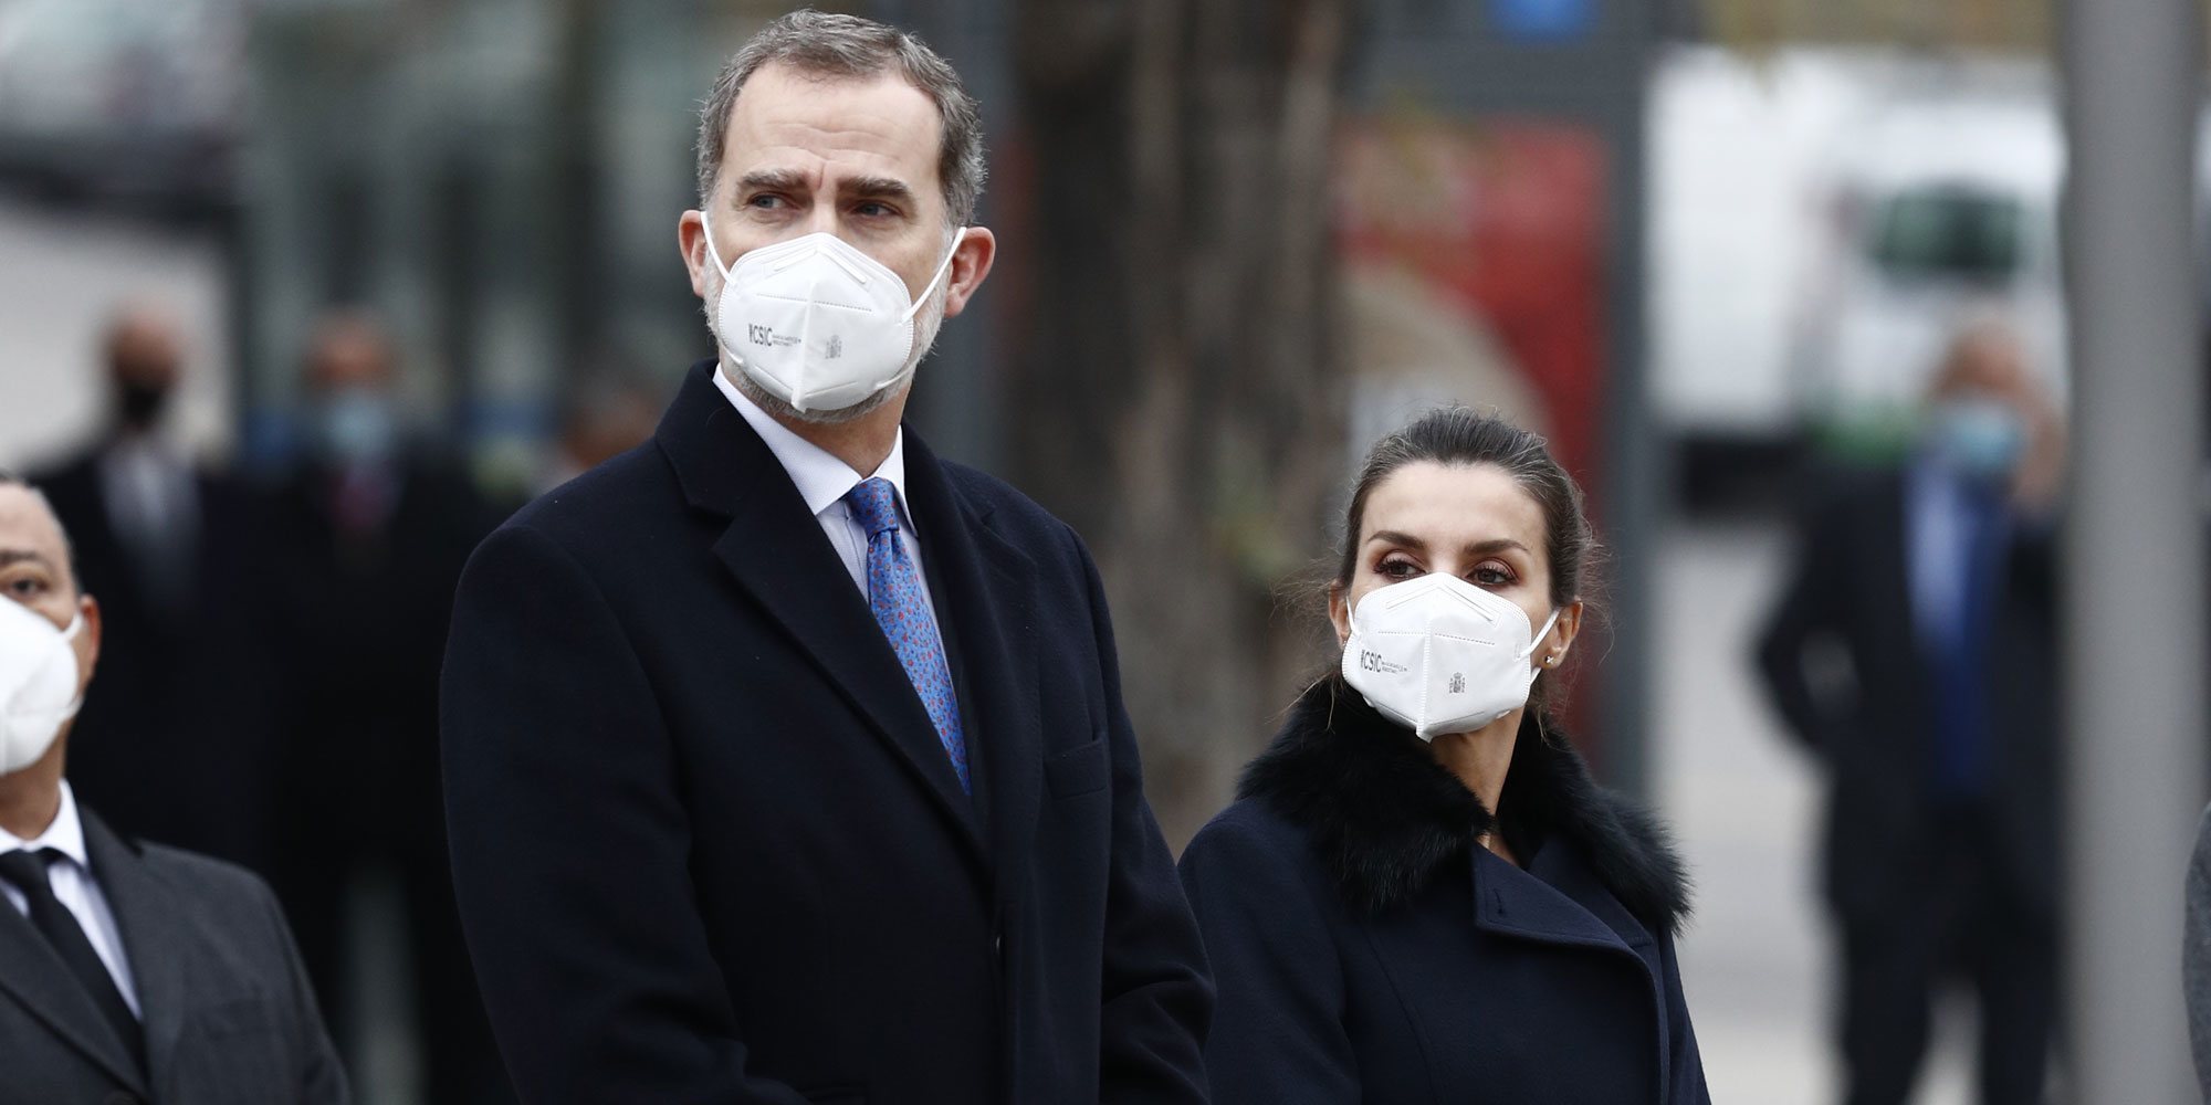
<instances>
[{"instance_id":1,"label":"blurred man in dark suit and blue tie beside the grey pole","mask_svg":"<svg viewBox=\"0 0 2211 1105\"><path fill-rule=\"evenodd\" d=\"M1930 999L1952 975L1979 999L1981 1101L2043 1101L2061 473L2063 427L2016 338L1966 329L1910 457L1820 488L1762 632L1773 705L1828 776L1848 1105L1910 1096Z\"/></svg>"}]
</instances>

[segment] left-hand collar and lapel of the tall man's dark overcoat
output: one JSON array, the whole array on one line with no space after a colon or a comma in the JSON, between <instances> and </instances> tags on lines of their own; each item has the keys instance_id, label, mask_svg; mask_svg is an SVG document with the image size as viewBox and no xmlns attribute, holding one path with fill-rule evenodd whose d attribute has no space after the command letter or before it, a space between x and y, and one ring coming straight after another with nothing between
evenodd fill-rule
<instances>
[{"instance_id":1,"label":"left-hand collar and lapel of the tall man's dark overcoat","mask_svg":"<svg viewBox=\"0 0 2211 1105\"><path fill-rule=\"evenodd\" d=\"M982 860L975 804L960 791L920 694L783 464L714 387L712 362L692 367L654 440L685 499L730 519L714 557L845 694Z\"/></svg>"}]
</instances>

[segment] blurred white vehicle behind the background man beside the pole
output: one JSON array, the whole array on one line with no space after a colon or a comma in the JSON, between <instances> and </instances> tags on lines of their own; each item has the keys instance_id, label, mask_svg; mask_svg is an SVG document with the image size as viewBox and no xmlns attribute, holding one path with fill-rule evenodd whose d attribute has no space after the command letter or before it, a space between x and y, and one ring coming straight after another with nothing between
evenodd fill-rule
<instances>
[{"instance_id":1,"label":"blurred white vehicle behind the background man beside the pole","mask_svg":"<svg viewBox=\"0 0 2211 1105\"><path fill-rule=\"evenodd\" d=\"M1652 391L1691 504L1784 491L1806 440L1895 453L1979 316L2065 396L2045 66L1678 46L1649 104Z\"/></svg>"}]
</instances>

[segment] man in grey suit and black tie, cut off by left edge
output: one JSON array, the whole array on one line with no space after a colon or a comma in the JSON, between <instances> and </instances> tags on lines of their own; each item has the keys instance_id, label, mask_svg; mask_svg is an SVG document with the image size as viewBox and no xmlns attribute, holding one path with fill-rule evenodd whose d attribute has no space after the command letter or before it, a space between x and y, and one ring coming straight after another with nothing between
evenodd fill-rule
<instances>
[{"instance_id":1,"label":"man in grey suit and black tie, cut off by left edge","mask_svg":"<svg viewBox=\"0 0 2211 1105\"><path fill-rule=\"evenodd\" d=\"M44 497L4 471L0 599L0 1105L345 1103L268 886L124 840L69 791L99 603Z\"/></svg>"}]
</instances>

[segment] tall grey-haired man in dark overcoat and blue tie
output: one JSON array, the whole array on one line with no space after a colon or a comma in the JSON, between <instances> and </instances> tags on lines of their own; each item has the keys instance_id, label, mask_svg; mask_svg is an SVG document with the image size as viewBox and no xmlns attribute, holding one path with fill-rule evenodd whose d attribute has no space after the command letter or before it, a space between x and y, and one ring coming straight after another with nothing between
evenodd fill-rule
<instances>
[{"instance_id":1,"label":"tall grey-haired man in dark overcoat and blue tie","mask_svg":"<svg viewBox=\"0 0 2211 1105\"><path fill-rule=\"evenodd\" d=\"M1205 1101L1212 992L1099 575L1066 524L900 424L991 267L988 230L957 230L973 102L913 38L800 11L703 115L712 232L685 212L681 241L721 365L652 442L493 533L453 612L453 875L515 1087ZM847 307L794 347L723 272L805 236L761 267ZM738 347L807 378L889 358L825 413Z\"/></svg>"}]
</instances>

